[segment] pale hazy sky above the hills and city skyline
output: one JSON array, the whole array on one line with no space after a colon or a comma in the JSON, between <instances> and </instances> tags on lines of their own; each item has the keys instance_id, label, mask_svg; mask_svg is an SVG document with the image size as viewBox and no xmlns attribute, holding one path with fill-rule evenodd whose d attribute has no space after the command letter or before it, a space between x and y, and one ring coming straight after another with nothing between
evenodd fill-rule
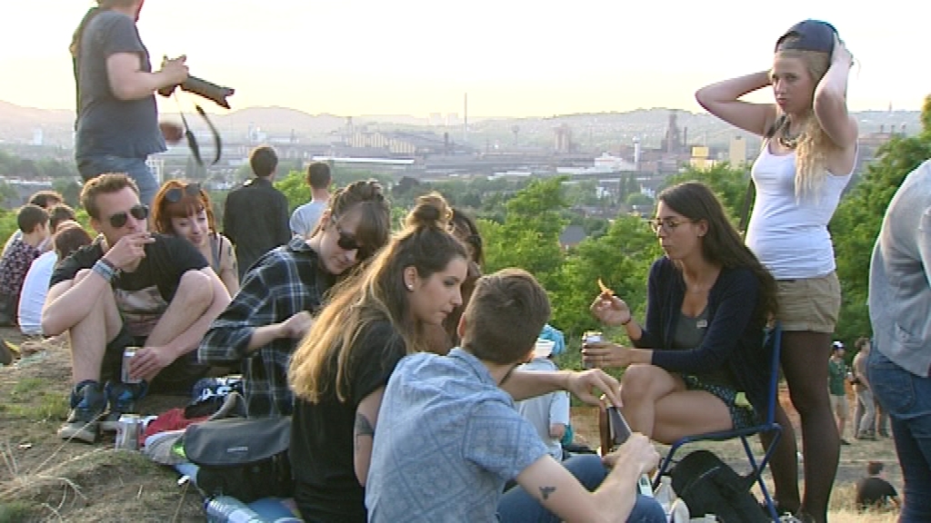
<instances>
[{"instance_id":1,"label":"pale hazy sky above the hills and city skyline","mask_svg":"<svg viewBox=\"0 0 931 523\"><path fill-rule=\"evenodd\" d=\"M917 110L931 92L926 2L883 0L147 0L153 61L236 87L234 109L551 115L675 107L760 71L776 37L829 20L859 61L852 110ZM0 100L72 109L67 47L89 0L5 1ZM924 7L921 7L924 6ZM772 100L762 93L753 100ZM173 110L170 105L162 105Z\"/></svg>"}]
</instances>

